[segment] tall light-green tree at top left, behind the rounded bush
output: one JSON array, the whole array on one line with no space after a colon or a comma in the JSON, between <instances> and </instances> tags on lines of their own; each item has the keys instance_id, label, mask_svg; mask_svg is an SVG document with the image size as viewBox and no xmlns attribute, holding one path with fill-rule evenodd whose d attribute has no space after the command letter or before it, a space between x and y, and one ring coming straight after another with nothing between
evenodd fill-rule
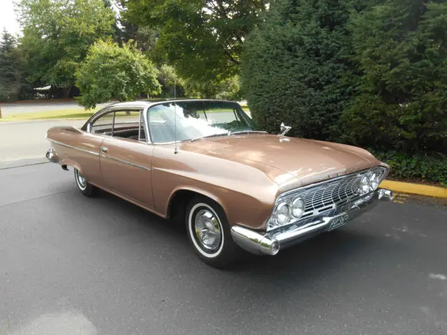
<instances>
[{"instance_id":1,"label":"tall light-green tree at top left, behind the rounded bush","mask_svg":"<svg viewBox=\"0 0 447 335\"><path fill-rule=\"evenodd\" d=\"M21 0L17 8L27 79L68 94L89 46L113 34L115 14L103 0Z\"/></svg>"}]
</instances>

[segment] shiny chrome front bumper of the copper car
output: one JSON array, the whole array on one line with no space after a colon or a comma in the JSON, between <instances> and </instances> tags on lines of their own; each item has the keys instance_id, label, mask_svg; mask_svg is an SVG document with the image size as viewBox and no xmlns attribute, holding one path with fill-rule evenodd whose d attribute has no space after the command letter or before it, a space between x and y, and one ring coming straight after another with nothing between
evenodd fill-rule
<instances>
[{"instance_id":1,"label":"shiny chrome front bumper of the copper car","mask_svg":"<svg viewBox=\"0 0 447 335\"><path fill-rule=\"evenodd\" d=\"M256 255L276 255L281 249L288 248L309 237L330 230L332 223L339 222L340 218L346 215L348 216L347 221L351 221L353 218L375 207L379 201L390 201L392 199L392 191L379 188L369 193L369 195L351 202L347 207L343 206L338 212L330 211L331 216L323 216L316 221L305 223L305 225L288 225L271 232L257 232L240 225L233 225L231 235L236 244L250 253ZM344 225L344 222L342 225Z\"/></svg>"}]
</instances>

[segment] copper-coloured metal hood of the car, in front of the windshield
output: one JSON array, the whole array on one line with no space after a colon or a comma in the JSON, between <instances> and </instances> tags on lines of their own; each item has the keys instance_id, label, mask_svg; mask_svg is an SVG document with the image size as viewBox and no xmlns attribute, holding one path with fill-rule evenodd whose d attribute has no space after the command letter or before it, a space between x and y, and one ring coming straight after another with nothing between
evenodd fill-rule
<instances>
[{"instance_id":1,"label":"copper-coloured metal hood of the car, in front of the windshield","mask_svg":"<svg viewBox=\"0 0 447 335\"><path fill-rule=\"evenodd\" d=\"M368 151L344 144L277 135L232 135L188 144L220 156L270 165L301 179L303 185L380 165Z\"/></svg>"}]
</instances>

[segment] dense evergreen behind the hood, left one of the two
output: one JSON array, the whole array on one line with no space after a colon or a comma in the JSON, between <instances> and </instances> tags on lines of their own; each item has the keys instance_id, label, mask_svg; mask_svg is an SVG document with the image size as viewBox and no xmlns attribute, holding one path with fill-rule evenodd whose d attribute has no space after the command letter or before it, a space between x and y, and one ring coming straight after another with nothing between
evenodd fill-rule
<instances>
[{"instance_id":1,"label":"dense evergreen behind the hood, left one of the two","mask_svg":"<svg viewBox=\"0 0 447 335\"><path fill-rule=\"evenodd\" d=\"M242 89L268 131L327 139L353 93L346 28L358 1L282 0L247 40ZM356 6L354 6L356 4Z\"/></svg>"}]
</instances>

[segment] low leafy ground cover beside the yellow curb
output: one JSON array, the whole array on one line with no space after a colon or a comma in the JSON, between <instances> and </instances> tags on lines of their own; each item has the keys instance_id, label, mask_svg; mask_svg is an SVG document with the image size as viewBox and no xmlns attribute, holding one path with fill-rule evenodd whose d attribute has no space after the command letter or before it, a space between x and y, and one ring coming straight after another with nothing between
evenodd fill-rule
<instances>
[{"instance_id":1,"label":"low leafy ground cover beside the yellow curb","mask_svg":"<svg viewBox=\"0 0 447 335\"><path fill-rule=\"evenodd\" d=\"M440 154L402 154L397 151L369 150L390 165L392 179L431 181L447 186L447 157Z\"/></svg>"}]
</instances>

